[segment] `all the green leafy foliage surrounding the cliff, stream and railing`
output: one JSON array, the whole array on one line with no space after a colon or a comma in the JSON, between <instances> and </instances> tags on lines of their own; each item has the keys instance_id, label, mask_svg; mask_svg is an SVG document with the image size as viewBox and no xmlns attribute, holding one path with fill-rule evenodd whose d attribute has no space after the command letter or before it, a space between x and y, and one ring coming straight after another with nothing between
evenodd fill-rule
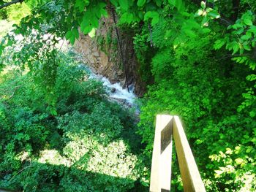
<instances>
[{"instance_id":1,"label":"all the green leafy foliage surrounding the cliff, stream and railing","mask_svg":"<svg viewBox=\"0 0 256 192\"><path fill-rule=\"evenodd\" d=\"M12 6L22 6L21 20L11 19L16 14ZM146 94L139 99L138 125L132 123L135 119L126 122L124 117L129 112L102 98L104 91L97 82L80 83L80 72L72 73L75 61L61 56L56 46L61 39L73 45L80 34L97 29L100 19L110 12L116 12L120 30L133 34L140 77L148 85ZM12 87L12 82L25 83L22 90L17 88L15 96L8 91L0 93L0 130L4 133L0 136L4 146L0 148L0 186L38 191L43 188L40 183L47 183L43 175L49 175L51 185L45 191L58 191L58 185L62 190L67 181L71 183L69 191L102 190L110 178L101 177L99 188L94 188L95 174L87 177L89 184L77 179L80 167L82 171L91 171L82 164L98 150L90 148L89 153L89 147L82 146L80 154L70 151L88 139L89 146L96 143L101 149L120 147L121 155L126 157L116 161L127 165L128 179L116 180L118 187L109 191L125 191L125 185L129 186L127 190L143 190L140 184L148 186L150 177L155 116L167 113L179 115L184 122L208 191L256 190L255 0L1 0L0 17L15 20L12 31L1 39L0 90ZM15 66L20 76L14 72L4 74L10 66ZM61 82L63 77L65 82ZM17 83L15 87L21 86ZM83 95L81 90L85 91ZM88 126L90 121L101 121L98 113L102 117L112 116L105 118L104 126ZM69 121L84 124L80 127ZM129 132L129 127L132 133L123 144L118 137ZM91 130L94 139L90 137ZM100 132L106 134L105 140L101 140ZM142 143L140 147L133 142L133 135ZM59 142L53 142L55 137ZM56 161L72 164L78 157L87 156L74 164L74 169L59 164L46 170L47 164L38 164L39 161L29 164L28 159L42 160L39 151L48 145L61 151ZM140 151L134 152L136 147ZM108 161L104 150L100 151L102 161ZM23 153L27 154L25 160ZM34 174L30 168L20 174L27 166ZM98 166L91 167L112 174ZM173 174L172 186L180 191L177 166ZM121 177L120 172L116 175Z\"/></svg>"}]
</instances>

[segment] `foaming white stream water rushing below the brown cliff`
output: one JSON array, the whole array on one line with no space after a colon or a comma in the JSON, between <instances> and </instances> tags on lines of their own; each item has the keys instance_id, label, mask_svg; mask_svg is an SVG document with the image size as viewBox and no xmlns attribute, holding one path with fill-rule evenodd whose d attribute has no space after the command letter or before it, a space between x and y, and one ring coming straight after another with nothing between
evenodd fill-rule
<instances>
[{"instance_id":1,"label":"foaming white stream water rushing below the brown cliff","mask_svg":"<svg viewBox=\"0 0 256 192\"><path fill-rule=\"evenodd\" d=\"M103 85L111 99L119 101L122 104L126 104L129 107L135 107L136 96L133 85L129 85L128 91L127 88L122 88L120 82L111 84L108 78L103 77L100 74L95 74L88 66L80 64L78 67L89 73L89 79L96 79L103 82Z\"/></svg>"}]
</instances>

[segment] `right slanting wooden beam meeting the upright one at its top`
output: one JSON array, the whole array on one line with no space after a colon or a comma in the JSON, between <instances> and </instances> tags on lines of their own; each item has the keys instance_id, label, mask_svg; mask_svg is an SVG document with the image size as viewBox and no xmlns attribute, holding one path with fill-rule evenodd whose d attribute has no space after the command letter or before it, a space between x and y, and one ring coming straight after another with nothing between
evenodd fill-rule
<instances>
[{"instance_id":1,"label":"right slanting wooden beam meeting the upright one at its top","mask_svg":"<svg viewBox=\"0 0 256 192\"><path fill-rule=\"evenodd\" d=\"M174 116L173 121L173 139L176 145L184 191L204 192L206 189L197 169L197 164L189 147L181 121L177 116Z\"/></svg>"}]
</instances>

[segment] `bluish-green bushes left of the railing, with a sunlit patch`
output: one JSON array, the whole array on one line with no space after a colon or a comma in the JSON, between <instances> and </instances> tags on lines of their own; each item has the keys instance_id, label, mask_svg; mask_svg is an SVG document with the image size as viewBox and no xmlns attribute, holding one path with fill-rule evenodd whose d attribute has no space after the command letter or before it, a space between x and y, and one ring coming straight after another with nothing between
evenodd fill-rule
<instances>
[{"instance_id":1,"label":"bluish-green bushes left of the railing, with a sunlit patch","mask_svg":"<svg viewBox=\"0 0 256 192\"><path fill-rule=\"evenodd\" d=\"M134 115L59 54L52 93L29 73L1 74L0 188L135 191L143 164Z\"/></svg>"}]
</instances>

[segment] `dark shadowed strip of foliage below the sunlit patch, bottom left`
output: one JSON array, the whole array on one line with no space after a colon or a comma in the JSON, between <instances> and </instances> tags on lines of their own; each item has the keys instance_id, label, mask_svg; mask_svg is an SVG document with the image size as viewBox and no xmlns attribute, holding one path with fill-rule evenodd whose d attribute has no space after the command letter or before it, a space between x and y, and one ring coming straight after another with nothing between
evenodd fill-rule
<instances>
[{"instance_id":1,"label":"dark shadowed strip of foliage below the sunlit patch, bottom left","mask_svg":"<svg viewBox=\"0 0 256 192\"><path fill-rule=\"evenodd\" d=\"M79 160L80 161L80 160ZM84 161L83 161L84 162ZM25 167L0 185L0 191L148 191L132 178L86 171L86 164L48 164L26 161ZM4 184L4 185L3 185Z\"/></svg>"}]
</instances>

